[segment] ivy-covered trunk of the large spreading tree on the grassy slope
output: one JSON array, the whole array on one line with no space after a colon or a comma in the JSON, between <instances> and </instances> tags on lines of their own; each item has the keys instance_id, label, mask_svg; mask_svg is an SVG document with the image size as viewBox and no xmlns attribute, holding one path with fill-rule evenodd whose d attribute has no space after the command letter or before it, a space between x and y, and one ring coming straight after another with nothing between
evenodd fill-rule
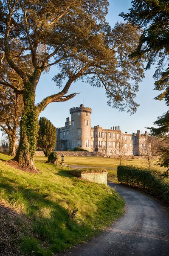
<instances>
[{"instance_id":1,"label":"ivy-covered trunk of the large spreading tree on the grassy slope","mask_svg":"<svg viewBox=\"0 0 169 256\"><path fill-rule=\"evenodd\" d=\"M23 93L23 114L20 121L20 144L14 160L22 167L36 170L34 154L37 147L37 133L39 129L39 112L34 105L35 87L31 81L26 82Z\"/></svg>"}]
</instances>

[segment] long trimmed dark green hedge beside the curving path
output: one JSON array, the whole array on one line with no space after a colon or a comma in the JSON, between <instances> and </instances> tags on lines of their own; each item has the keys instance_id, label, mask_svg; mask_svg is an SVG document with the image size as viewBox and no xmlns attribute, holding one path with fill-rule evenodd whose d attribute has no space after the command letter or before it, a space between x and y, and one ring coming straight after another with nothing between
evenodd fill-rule
<instances>
[{"instance_id":1,"label":"long trimmed dark green hedge beside the curving path","mask_svg":"<svg viewBox=\"0 0 169 256\"><path fill-rule=\"evenodd\" d=\"M169 179L161 172L122 165L117 167L117 177L119 182L144 189L169 204Z\"/></svg>"}]
</instances>

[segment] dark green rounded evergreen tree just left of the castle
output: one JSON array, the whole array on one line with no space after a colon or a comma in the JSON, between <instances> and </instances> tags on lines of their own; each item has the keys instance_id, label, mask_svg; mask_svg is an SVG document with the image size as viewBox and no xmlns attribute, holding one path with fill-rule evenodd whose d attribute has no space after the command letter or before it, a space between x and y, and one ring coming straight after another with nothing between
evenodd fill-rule
<instances>
[{"instance_id":1,"label":"dark green rounded evergreen tree just left of the castle","mask_svg":"<svg viewBox=\"0 0 169 256\"><path fill-rule=\"evenodd\" d=\"M39 119L38 147L43 149L46 157L54 150L56 144L56 128L45 117Z\"/></svg>"}]
</instances>

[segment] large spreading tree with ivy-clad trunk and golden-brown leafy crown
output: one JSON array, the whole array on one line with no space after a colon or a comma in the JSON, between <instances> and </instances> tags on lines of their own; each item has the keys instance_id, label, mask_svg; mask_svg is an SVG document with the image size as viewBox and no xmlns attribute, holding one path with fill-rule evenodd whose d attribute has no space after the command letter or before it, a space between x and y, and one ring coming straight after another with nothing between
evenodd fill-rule
<instances>
[{"instance_id":1,"label":"large spreading tree with ivy-clad trunk and golden-brown leafy crown","mask_svg":"<svg viewBox=\"0 0 169 256\"><path fill-rule=\"evenodd\" d=\"M103 86L109 105L136 111L133 98L144 75L142 64L128 55L137 47L138 32L130 24L111 29L107 7L107 0L0 0L0 47L23 81L23 90L13 87L23 93L24 102L15 157L20 165L35 169L39 113L51 102L72 99L76 93L67 93L73 81L86 78ZM59 67L54 81L63 88L35 105L40 76L54 65Z\"/></svg>"}]
</instances>

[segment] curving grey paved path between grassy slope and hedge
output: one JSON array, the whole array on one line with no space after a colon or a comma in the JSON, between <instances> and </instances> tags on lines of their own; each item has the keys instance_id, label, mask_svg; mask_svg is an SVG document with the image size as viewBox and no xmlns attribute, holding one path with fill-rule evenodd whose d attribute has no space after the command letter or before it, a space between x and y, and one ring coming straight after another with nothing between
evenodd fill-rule
<instances>
[{"instance_id":1,"label":"curving grey paved path between grassy slope and hedge","mask_svg":"<svg viewBox=\"0 0 169 256\"><path fill-rule=\"evenodd\" d=\"M125 214L104 233L64 256L169 256L169 219L156 201L109 183L126 201Z\"/></svg>"}]
</instances>

